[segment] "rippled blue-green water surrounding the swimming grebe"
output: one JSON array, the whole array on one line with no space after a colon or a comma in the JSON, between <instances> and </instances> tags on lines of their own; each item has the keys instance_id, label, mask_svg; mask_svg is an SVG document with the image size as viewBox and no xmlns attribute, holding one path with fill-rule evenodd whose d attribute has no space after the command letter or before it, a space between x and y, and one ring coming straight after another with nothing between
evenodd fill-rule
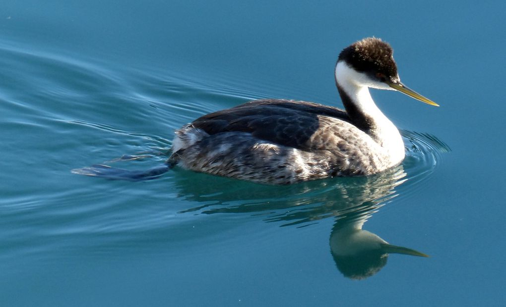
<instances>
[{"instance_id":1,"label":"rippled blue-green water surrounding the swimming grebe","mask_svg":"<svg viewBox=\"0 0 506 307\"><path fill-rule=\"evenodd\" d=\"M0 305L503 305L505 10L4 2ZM248 99L341 106L335 60L373 35L441 105L372 92L402 129L399 168L282 187L71 173L161 165L175 129ZM335 257L350 227L430 258Z\"/></svg>"}]
</instances>

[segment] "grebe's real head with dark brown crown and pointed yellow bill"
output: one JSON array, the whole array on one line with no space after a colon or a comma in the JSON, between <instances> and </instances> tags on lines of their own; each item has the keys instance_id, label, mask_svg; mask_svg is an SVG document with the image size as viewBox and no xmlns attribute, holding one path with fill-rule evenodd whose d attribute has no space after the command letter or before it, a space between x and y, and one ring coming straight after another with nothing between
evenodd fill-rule
<instances>
[{"instance_id":1,"label":"grebe's real head with dark brown crown and pointed yellow bill","mask_svg":"<svg viewBox=\"0 0 506 307\"><path fill-rule=\"evenodd\" d=\"M375 37L367 37L351 44L339 55L335 66L336 83L398 90L426 104L439 107L434 101L402 84L393 54L394 50L390 44Z\"/></svg>"}]
</instances>

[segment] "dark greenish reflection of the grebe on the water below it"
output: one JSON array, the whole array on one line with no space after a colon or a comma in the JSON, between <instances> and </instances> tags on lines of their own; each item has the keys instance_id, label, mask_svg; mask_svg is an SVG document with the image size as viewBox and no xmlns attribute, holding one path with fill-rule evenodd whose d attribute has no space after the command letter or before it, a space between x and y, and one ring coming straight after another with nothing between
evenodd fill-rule
<instances>
[{"instance_id":1,"label":"dark greenish reflection of the grebe on the water below it","mask_svg":"<svg viewBox=\"0 0 506 307\"><path fill-rule=\"evenodd\" d=\"M390 253L428 257L410 248L391 245L362 229L374 213L397 196L395 188L407 180L402 166L375 176L282 187L191 175L191 178L175 176L179 194L203 204L180 213L250 213L262 216L266 222L298 227L325 218L335 219L329 239L330 252L345 277L364 279L377 273L386 265ZM409 184L414 181L416 178L410 178Z\"/></svg>"}]
</instances>

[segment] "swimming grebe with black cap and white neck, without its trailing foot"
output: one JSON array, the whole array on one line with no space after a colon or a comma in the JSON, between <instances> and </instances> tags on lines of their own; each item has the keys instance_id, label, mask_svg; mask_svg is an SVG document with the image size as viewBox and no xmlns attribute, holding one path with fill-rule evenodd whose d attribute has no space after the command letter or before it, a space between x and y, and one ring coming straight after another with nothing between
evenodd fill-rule
<instances>
[{"instance_id":1,"label":"swimming grebe with black cap and white neck, without its trailing foot","mask_svg":"<svg viewBox=\"0 0 506 307\"><path fill-rule=\"evenodd\" d=\"M372 175L399 165L401 135L369 88L438 105L401 83L393 49L379 38L344 48L334 76L346 111L308 101L252 100L177 130L168 165L264 184Z\"/></svg>"}]
</instances>

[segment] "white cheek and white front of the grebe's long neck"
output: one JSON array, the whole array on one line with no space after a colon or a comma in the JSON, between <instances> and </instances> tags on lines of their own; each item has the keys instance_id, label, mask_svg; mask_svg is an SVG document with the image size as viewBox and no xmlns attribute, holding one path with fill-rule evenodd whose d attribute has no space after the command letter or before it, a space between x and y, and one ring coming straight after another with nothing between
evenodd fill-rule
<instances>
[{"instance_id":1,"label":"white cheek and white front of the grebe's long neck","mask_svg":"<svg viewBox=\"0 0 506 307\"><path fill-rule=\"evenodd\" d=\"M348 116L354 124L384 147L393 161L402 161L404 143L399 130L378 109L369 93L369 87L391 88L387 84L371 80L342 61L335 67L335 80Z\"/></svg>"}]
</instances>

